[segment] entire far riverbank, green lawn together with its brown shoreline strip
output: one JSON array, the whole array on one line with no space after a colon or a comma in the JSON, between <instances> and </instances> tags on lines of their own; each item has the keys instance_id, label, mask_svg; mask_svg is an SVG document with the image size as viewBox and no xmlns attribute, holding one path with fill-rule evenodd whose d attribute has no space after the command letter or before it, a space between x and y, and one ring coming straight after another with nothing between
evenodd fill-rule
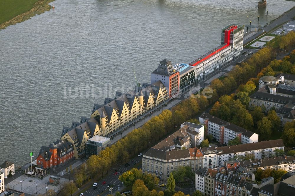
<instances>
[{"instance_id":1,"label":"entire far riverbank, green lawn together with its brown shoreline strip","mask_svg":"<svg viewBox=\"0 0 295 196\"><path fill-rule=\"evenodd\" d=\"M2 0L0 3L0 29L48 11L54 0Z\"/></svg>"}]
</instances>

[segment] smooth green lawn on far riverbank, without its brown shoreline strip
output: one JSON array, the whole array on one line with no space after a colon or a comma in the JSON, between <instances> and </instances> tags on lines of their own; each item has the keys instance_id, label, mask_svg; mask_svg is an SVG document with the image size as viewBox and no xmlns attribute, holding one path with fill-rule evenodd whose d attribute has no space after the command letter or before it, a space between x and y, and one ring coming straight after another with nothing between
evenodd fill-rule
<instances>
[{"instance_id":1,"label":"smooth green lawn on far riverbank, without its brown shoreline strip","mask_svg":"<svg viewBox=\"0 0 295 196\"><path fill-rule=\"evenodd\" d=\"M1 0L0 24L32 9L38 0Z\"/></svg>"}]
</instances>

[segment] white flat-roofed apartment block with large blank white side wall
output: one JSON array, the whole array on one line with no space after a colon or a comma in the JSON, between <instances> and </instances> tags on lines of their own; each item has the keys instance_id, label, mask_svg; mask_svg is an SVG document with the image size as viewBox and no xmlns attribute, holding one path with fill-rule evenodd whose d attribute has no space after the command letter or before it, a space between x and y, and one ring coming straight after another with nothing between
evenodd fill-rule
<instances>
[{"instance_id":1,"label":"white flat-roofed apartment block with large blank white side wall","mask_svg":"<svg viewBox=\"0 0 295 196\"><path fill-rule=\"evenodd\" d=\"M180 125L180 128L185 125L189 126L190 128L186 132L191 136L191 146L196 147L200 145L204 140L204 125L184 122Z\"/></svg>"}]
</instances>

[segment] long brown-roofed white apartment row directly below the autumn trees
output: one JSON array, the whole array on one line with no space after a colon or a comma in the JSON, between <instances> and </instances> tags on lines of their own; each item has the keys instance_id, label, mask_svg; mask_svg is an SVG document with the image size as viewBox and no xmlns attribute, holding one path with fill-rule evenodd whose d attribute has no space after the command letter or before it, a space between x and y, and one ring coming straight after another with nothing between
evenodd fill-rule
<instances>
[{"instance_id":1,"label":"long brown-roofed white apartment row directly below the autumn trees","mask_svg":"<svg viewBox=\"0 0 295 196\"><path fill-rule=\"evenodd\" d=\"M201 124L206 125L207 134L212 134L220 144L228 144L228 142L235 139L235 137L239 137L242 144L258 142L258 134L208 113L204 112L200 116L199 121Z\"/></svg>"}]
</instances>

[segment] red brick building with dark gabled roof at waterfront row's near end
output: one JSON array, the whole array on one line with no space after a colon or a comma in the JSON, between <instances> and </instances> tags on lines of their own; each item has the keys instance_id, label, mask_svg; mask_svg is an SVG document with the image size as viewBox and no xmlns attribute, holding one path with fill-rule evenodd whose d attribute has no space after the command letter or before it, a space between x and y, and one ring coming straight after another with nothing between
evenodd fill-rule
<instances>
[{"instance_id":1,"label":"red brick building with dark gabled roof at waterfront row's near end","mask_svg":"<svg viewBox=\"0 0 295 196\"><path fill-rule=\"evenodd\" d=\"M37 158L37 167L52 168L74 159L73 144L65 140L56 140L49 147L42 146Z\"/></svg>"}]
</instances>

